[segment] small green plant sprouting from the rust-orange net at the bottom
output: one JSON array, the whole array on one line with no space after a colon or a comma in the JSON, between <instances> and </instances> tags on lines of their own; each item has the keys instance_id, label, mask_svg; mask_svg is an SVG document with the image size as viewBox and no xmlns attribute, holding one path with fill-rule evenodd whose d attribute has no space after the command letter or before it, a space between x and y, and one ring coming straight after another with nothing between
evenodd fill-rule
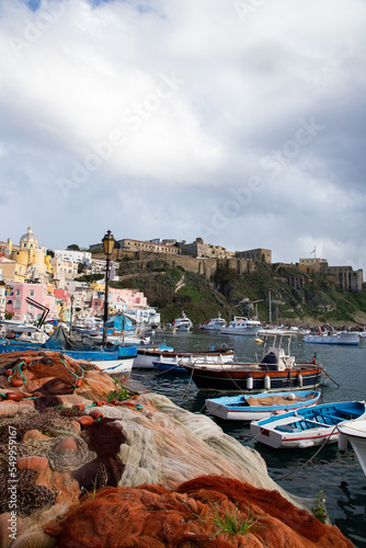
<instances>
[{"instance_id":1,"label":"small green plant sprouting from the rust-orange net at the bottom","mask_svg":"<svg viewBox=\"0 0 366 548\"><path fill-rule=\"evenodd\" d=\"M258 525L261 516L251 516L250 507L248 506L248 515L245 518L241 515L238 506L232 510L224 510L211 501L214 512L213 515L201 517L203 521L209 521L218 530L215 536L220 533L228 533L229 535L247 535L251 529L258 529L262 525Z\"/></svg>"}]
</instances>

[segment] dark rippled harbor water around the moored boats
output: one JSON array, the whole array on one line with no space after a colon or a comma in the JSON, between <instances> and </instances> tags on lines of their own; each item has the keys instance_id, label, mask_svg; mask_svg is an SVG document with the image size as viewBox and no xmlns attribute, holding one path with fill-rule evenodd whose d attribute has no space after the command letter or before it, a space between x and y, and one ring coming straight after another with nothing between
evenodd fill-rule
<instances>
[{"instance_id":1,"label":"dark rippled harbor water around the moored boats","mask_svg":"<svg viewBox=\"0 0 366 548\"><path fill-rule=\"evenodd\" d=\"M208 350L213 346L235 349L236 358L254 362L262 357L263 345L254 336L221 335L215 332L155 334L152 342L167 344L176 351ZM284 338L285 341L285 338ZM268 343L267 343L268 345ZM283 345L287 351L287 345ZM291 355L298 362L311 362L314 352L329 377L321 387L321 403L366 400L366 340L355 346L305 343L301 335L291 336ZM176 406L194 413L208 414L205 399L222 396L201 392L187 374L172 375L155 370L135 370L133 377L148 389L167 396ZM340 386L338 386L340 385ZM358 548L366 548L366 477L348 446L341 454L336 444L307 449L272 449L253 439L249 424L215 420L225 433L241 444L255 448L267 465L268 475L288 492L314 499L325 494L327 510L333 525Z\"/></svg>"}]
</instances>

